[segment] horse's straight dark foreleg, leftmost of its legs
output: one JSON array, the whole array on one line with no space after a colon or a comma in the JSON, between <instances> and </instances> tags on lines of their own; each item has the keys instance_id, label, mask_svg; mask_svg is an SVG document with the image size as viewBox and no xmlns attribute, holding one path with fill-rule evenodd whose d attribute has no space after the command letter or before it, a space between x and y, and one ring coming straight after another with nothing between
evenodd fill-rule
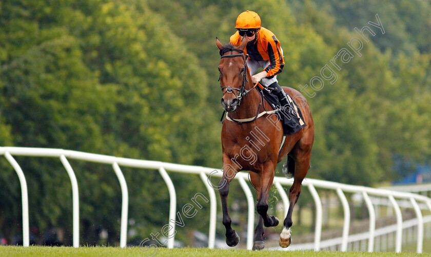
<instances>
[{"instance_id":1,"label":"horse's straight dark foreleg, leftmost of its legs","mask_svg":"<svg viewBox=\"0 0 431 257\"><path fill-rule=\"evenodd\" d=\"M227 195L229 194L229 185L232 179L238 172L238 166L223 154L223 177L219 183L219 194L222 200L223 209L223 225L226 228L226 244L230 247L236 246L240 242L238 233L232 229L232 220L229 216L229 210L227 208Z\"/></svg>"}]
</instances>

